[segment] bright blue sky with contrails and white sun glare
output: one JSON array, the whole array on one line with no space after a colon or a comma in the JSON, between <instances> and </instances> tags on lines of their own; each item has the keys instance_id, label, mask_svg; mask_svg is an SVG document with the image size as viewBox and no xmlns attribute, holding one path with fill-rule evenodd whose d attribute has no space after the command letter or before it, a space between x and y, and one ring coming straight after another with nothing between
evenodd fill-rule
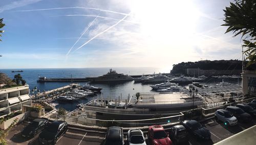
<instances>
[{"instance_id":1,"label":"bright blue sky with contrails and white sun glare","mask_svg":"<svg viewBox=\"0 0 256 145\"><path fill-rule=\"evenodd\" d=\"M223 0L1 0L0 68L157 67L241 60Z\"/></svg>"}]
</instances>

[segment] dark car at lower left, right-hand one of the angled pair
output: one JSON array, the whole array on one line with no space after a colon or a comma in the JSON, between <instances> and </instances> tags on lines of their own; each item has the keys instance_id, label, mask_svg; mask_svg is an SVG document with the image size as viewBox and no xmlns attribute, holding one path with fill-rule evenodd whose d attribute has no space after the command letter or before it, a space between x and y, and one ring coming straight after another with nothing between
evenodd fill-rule
<instances>
[{"instance_id":1,"label":"dark car at lower left, right-hand one of the angled pair","mask_svg":"<svg viewBox=\"0 0 256 145\"><path fill-rule=\"evenodd\" d=\"M67 131L68 123L55 121L39 134L39 142L42 144L55 144L58 138Z\"/></svg>"}]
</instances>

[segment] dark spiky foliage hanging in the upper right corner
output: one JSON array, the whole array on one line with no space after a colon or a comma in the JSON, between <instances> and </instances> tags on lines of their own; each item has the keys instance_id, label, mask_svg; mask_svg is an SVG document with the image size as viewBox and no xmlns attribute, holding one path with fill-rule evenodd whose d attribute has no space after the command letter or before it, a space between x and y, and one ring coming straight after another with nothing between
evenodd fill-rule
<instances>
[{"instance_id":1,"label":"dark spiky foliage hanging in the upper right corner","mask_svg":"<svg viewBox=\"0 0 256 145\"><path fill-rule=\"evenodd\" d=\"M249 60L247 67L256 63L256 0L235 0L225 10L225 24L227 31L233 32L234 37L242 35L244 38L244 54Z\"/></svg>"}]
</instances>

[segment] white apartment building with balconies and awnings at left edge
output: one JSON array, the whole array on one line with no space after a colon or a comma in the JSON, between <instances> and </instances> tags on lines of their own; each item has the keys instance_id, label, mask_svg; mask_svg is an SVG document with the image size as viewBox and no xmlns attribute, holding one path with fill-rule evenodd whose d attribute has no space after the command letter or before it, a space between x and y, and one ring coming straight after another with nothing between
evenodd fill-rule
<instances>
[{"instance_id":1,"label":"white apartment building with balconies and awnings at left edge","mask_svg":"<svg viewBox=\"0 0 256 145\"><path fill-rule=\"evenodd\" d=\"M12 111L22 110L22 105L30 104L29 85L0 90L0 118Z\"/></svg>"}]
</instances>

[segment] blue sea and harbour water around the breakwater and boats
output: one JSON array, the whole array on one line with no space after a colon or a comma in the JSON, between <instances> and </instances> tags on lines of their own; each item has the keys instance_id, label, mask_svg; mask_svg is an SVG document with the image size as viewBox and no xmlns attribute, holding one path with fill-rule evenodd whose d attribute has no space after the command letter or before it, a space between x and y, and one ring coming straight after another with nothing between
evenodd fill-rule
<instances>
[{"instance_id":1,"label":"blue sea and harbour water around the breakwater and boats","mask_svg":"<svg viewBox=\"0 0 256 145\"><path fill-rule=\"evenodd\" d=\"M6 73L11 79L14 78L15 74L22 75L23 79L26 80L27 84L29 84L30 90L32 90L35 86L37 89L42 91L53 90L56 88L60 88L61 86L65 86L71 84L71 82L37 82L38 77L47 77L47 78L82 78L82 77L97 77L103 74L108 73L110 68L63 68L63 69L0 69L0 72ZM155 73L169 73L163 72L164 70L160 68L150 68L150 67L141 67L141 68L112 68L116 70L117 73L123 73L127 75L142 75L142 74L153 74ZM23 72L12 73L11 71L23 70ZM165 70L166 71L166 70ZM86 85L88 82L79 82L81 85ZM152 84L141 84L134 83L134 81L127 82L117 82L117 83L90 83L93 86L102 88L101 94L98 94L94 97L87 97L84 99L79 99L73 103L67 102L58 102L54 101L58 107L63 107L68 111L72 111L76 109L76 105L80 103L87 103L91 101L93 98L108 98L108 96L112 99L118 99L118 96L122 96L122 99L128 97L128 95L140 93L148 93L152 92L150 85ZM122 95L121 95L122 94Z\"/></svg>"}]
</instances>

